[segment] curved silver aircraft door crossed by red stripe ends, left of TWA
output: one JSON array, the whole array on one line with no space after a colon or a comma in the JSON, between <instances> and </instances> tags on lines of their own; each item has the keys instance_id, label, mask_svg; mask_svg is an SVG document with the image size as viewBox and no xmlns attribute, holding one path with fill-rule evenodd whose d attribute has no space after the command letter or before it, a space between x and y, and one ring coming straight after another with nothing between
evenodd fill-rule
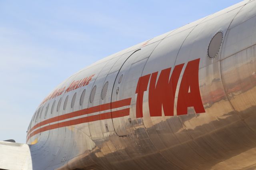
<instances>
[{"instance_id":1,"label":"curved silver aircraft door crossed by red stripe ends, left of TWA","mask_svg":"<svg viewBox=\"0 0 256 170\"><path fill-rule=\"evenodd\" d=\"M111 96L111 116L118 136L126 136L127 129L135 124L142 124L136 118L136 87L149 55L155 44L137 51L123 63L114 82ZM136 123L137 122L137 123ZM135 125L136 126L136 125Z\"/></svg>"}]
</instances>

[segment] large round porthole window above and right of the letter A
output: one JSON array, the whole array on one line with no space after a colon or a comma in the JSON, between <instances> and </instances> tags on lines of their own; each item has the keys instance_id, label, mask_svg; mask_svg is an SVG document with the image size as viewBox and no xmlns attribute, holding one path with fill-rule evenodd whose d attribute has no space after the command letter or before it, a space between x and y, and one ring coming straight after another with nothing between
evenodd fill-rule
<instances>
[{"instance_id":1,"label":"large round porthole window above and right of the letter A","mask_svg":"<svg viewBox=\"0 0 256 170\"><path fill-rule=\"evenodd\" d=\"M208 47L208 56L210 57L210 59L213 59L218 54L218 52L220 50L220 45L222 43L222 39L223 39L222 32L218 32L212 38L212 40L209 44L209 47Z\"/></svg>"}]
</instances>

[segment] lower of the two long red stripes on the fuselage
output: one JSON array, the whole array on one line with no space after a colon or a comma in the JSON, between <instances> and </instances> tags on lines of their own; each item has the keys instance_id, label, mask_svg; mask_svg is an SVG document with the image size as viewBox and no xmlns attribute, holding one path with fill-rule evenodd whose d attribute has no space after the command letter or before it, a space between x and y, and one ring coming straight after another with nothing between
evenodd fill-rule
<instances>
[{"instance_id":1,"label":"lower of the two long red stripes on the fuselage","mask_svg":"<svg viewBox=\"0 0 256 170\"><path fill-rule=\"evenodd\" d=\"M70 121L65 121L65 122L61 122L61 123L56 123L53 125L48 125L42 128L39 128L37 130L35 130L34 132L30 133L30 135L28 135L28 139L31 138L32 136L47 131L47 130L52 130L52 129L56 129L56 128L61 128L61 127L67 127L67 126L72 126L72 125L78 125L81 123L87 123L87 122L93 122L93 121L99 121L99 120L104 120L104 119L111 119L111 118L117 118L117 117L124 117L129 115L130 113L130 108L127 109L122 109L119 111L114 111L112 112L112 116L111 116L111 112L107 112L107 113L102 113L99 115L92 115L92 116L88 116L88 117L82 117L82 118L78 118L78 119L73 119ZM28 142L27 139L27 142Z\"/></svg>"}]
</instances>

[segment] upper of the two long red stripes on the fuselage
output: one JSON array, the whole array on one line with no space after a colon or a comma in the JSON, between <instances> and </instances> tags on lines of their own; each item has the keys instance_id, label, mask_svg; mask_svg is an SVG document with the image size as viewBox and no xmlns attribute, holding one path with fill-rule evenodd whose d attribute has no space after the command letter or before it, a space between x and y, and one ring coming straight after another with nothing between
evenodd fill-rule
<instances>
[{"instance_id":1,"label":"upper of the two long red stripes on the fuselage","mask_svg":"<svg viewBox=\"0 0 256 170\"><path fill-rule=\"evenodd\" d=\"M33 130L35 130L36 128L38 128L40 126L43 126L43 125L46 125L46 124L49 124L49 123L54 123L54 122L57 122L57 121L63 121L65 119L70 119L70 118L73 118L73 117L87 115L87 114L90 114L90 113L96 113L96 112L99 112L99 111L106 111L106 110L109 110L109 109L116 109L116 108L119 108L119 107L128 106L128 105L131 104L131 100L132 100L132 98L123 99L123 100L120 100L120 101L115 101L115 102L112 102L112 103L106 103L106 104L102 104L102 105L82 109L82 110L79 110L79 111L74 111L74 112L67 113L67 114L64 114L64 115L52 117L50 119L47 119L45 121L42 121L42 122L34 125L32 128L30 128L30 130L28 130L27 134L30 134L30 132L32 132Z\"/></svg>"}]
</instances>

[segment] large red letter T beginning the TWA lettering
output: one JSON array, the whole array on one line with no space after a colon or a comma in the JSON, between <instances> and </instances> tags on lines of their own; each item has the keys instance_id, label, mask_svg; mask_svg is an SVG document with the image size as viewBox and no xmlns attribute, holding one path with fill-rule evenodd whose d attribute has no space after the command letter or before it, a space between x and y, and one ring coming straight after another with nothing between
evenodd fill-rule
<instances>
[{"instance_id":1,"label":"large red letter T beginning the TWA lettering","mask_svg":"<svg viewBox=\"0 0 256 170\"><path fill-rule=\"evenodd\" d=\"M143 117L142 103L143 103L143 95L144 91L147 91L148 81L150 78L150 74L144 75L139 78L138 84L136 87L137 101L136 101L136 117Z\"/></svg>"}]
</instances>

